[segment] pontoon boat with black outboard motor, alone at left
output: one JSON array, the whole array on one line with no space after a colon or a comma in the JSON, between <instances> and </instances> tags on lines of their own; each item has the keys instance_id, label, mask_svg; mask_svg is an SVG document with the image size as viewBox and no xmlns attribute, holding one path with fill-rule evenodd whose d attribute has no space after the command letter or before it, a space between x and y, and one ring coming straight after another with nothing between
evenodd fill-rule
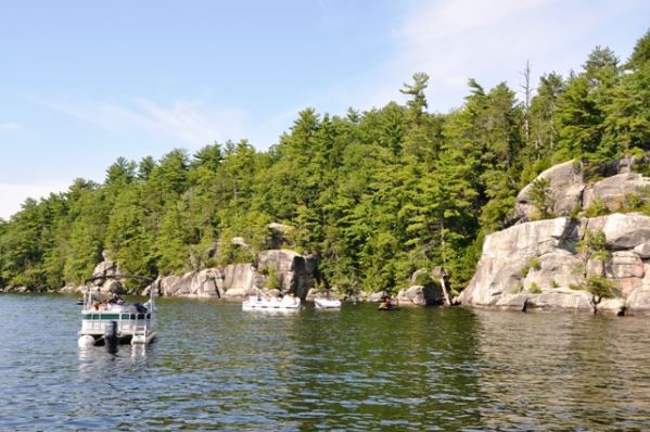
<instances>
[{"instance_id":1,"label":"pontoon boat with black outboard motor, alone at left","mask_svg":"<svg viewBox=\"0 0 650 432\"><path fill-rule=\"evenodd\" d=\"M132 278L132 276L122 278L125 277ZM86 282L92 282L94 279L98 278L88 279ZM88 288L84 293L79 346L150 343L156 336L157 327L154 292L155 290L150 290L150 298L143 305L136 303L129 306L120 301L101 303L98 295Z\"/></svg>"}]
</instances>

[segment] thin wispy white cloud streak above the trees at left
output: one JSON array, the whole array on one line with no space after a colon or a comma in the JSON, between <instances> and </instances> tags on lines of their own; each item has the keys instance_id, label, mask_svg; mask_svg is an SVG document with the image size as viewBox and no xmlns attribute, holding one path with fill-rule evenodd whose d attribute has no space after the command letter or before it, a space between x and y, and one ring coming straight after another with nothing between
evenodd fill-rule
<instances>
[{"instance_id":1,"label":"thin wispy white cloud streak above the trees at left","mask_svg":"<svg viewBox=\"0 0 650 432\"><path fill-rule=\"evenodd\" d=\"M177 100L170 105L146 98L132 98L120 103L85 103L42 98L36 101L111 132L144 131L173 137L190 148L241 137L247 118L242 110L213 109L202 101Z\"/></svg>"}]
</instances>

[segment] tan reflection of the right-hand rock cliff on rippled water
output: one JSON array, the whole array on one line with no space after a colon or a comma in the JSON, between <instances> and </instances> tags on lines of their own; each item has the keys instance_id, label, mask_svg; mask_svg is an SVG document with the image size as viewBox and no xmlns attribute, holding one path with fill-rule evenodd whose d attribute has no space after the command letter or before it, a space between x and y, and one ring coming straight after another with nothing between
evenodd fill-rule
<instances>
[{"instance_id":1,"label":"tan reflection of the right-hand rock cliff on rippled water","mask_svg":"<svg viewBox=\"0 0 650 432\"><path fill-rule=\"evenodd\" d=\"M484 424L650 427L648 318L477 312Z\"/></svg>"}]
</instances>

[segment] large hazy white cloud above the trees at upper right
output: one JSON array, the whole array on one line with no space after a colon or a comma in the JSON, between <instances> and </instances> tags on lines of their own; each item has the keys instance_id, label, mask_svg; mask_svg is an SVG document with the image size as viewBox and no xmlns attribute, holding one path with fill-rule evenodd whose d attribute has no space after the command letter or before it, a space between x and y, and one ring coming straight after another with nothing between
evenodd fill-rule
<instances>
[{"instance_id":1,"label":"large hazy white cloud above the trees at upper right","mask_svg":"<svg viewBox=\"0 0 650 432\"><path fill-rule=\"evenodd\" d=\"M642 13L642 1L560 0L413 1L395 24L396 54L321 93L324 104L368 109L403 100L415 72L430 76L430 110L447 112L463 103L468 79L486 89L507 81L519 90L531 62L533 84L543 73L578 69L597 45L625 58L635 42L621 38L621 22ZM619 46L616 47L616 43ZM393 50L391 50L393 51ZM628 51L629 52L629 51Z\"/></svg>"}]
</instances>

